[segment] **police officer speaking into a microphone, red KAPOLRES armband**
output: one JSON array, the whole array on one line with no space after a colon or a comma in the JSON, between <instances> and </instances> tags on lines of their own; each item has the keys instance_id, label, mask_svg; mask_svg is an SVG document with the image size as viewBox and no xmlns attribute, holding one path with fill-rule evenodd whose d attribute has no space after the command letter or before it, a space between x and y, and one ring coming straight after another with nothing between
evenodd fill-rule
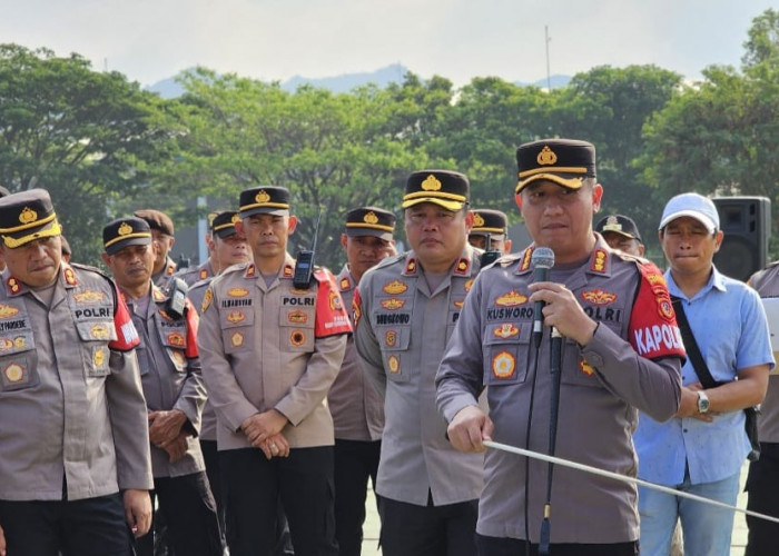
<instances>
[{"instance_id":1,"label":"police officer speaking into a microphone, red KAPOLRES armband","mask_svg":"<svg viewBox=\"0 0 779 556\"><path fill-rule=\"evenodd\" d=\"M603 190L591 143L535 141L516 158L515 199L534 242L485 269L465 300L436 377L448 436L466 453L484 451L485 438L548 453L555 327L563 336L556 455L635 476L638 409L663 420L679 407L684 353L664 280L593 234ZM539 247L554 252L549 281L533 280ZM540 347L536 301L545 304ZM476 405L485 387L489 415ZM534 554L548 464L494 450L484 470L479 554L525 554L527 540ZM551 554L638 554L635 502L632 485L555 467Z\"/></svg>"}]
</instances>

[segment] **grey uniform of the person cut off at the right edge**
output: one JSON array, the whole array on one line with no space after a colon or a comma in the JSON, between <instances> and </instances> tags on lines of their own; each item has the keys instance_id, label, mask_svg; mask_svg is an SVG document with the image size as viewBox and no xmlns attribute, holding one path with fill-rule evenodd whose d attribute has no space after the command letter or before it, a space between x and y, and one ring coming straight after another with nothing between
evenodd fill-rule
<instances>
[{"instance_id":1,"label":"grey uniform of the person cut off at the right edge","mask_svg":"<svg viewBox=\"0 0 779 556\"><path fill-rule=\"evenodd\" d=\"M756 272L749 279L760 297L779 297L779 262ZM775 353L776 355L776 353ZM766 398L760 404L758 419L760 459L749 465L746 490L749 493L747 508L752 512L779 517L779 378L768 377ZM773 554L779 525L747 516L749 535L746 556Z\"/></svg>"}]
</instances>

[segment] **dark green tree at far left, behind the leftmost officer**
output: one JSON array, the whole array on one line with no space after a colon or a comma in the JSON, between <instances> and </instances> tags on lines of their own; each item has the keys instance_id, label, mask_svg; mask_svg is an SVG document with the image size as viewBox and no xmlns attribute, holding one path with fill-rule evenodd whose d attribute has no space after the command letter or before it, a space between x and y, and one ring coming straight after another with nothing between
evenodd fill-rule
<instances>
[{"instance_id":1,"label":"dark green tree at far left, behind the leftmost officer","mask_svg":"<svg viewBox=\"0 0 779 556\"><path fill-rule=\"evenodd\" d=\"M164 156L158 99L78 54L0 44L0 182L51 193L76 260L96 262L111 199L134 195Z\"/></svg>"}]
</instances>

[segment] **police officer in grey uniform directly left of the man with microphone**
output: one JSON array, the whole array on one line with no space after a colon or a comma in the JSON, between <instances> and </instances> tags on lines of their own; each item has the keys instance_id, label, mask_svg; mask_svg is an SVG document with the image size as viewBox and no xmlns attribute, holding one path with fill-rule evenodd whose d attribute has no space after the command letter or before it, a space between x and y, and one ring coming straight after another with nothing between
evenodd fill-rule
<instances>
[{"instance_id":1,"label":"police officer in grey uniform directly left of the man with microphone","mask_svg":"<svg viewBox=\"0 0 779 556\"><path fill-rule=\"evenodd\" d=\"M376 485L385 556L475 553L483 458L450 446L433 384L479 272L467 203L464 175L413 172L402 205L412 250L365 272L355 296L355 345L385 398Z\"/></svg>"}]
</instances>

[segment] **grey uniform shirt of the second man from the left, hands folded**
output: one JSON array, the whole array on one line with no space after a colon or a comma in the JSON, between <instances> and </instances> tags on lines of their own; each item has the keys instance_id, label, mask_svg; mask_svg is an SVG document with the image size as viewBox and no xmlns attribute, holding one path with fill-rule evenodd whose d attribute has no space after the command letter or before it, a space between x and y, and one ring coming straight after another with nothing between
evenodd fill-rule
<instances>
[{"instance_id":1,"label":"grey uniform shirt of the second man from the left, hands folded","mask_svg":"<svg viewBox=\"0 0 779 556\"><path fill-rule=\"evenodd\" d=\"M172 317L166 311L168 297L154 285L148 297L148 304L127 299L140 335L137 355L146 405L149 411L181 410L187 417L181 430L191 433L187 437L187 451L176 461L170 461L167 451L152 445L151 464L155 477L179 477L206 468L197 441L206 401L197 350L198 317L189 300L186 315Z\"/></svg>"}]
</instances>

